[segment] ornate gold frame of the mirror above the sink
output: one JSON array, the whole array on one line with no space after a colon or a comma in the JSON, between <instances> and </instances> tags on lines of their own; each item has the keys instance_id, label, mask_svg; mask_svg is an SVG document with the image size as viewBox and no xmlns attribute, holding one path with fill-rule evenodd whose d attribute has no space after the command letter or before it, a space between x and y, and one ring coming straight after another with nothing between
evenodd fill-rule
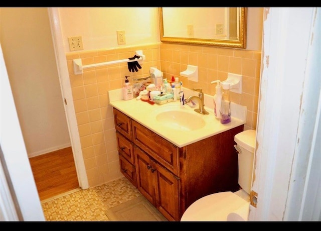
<instances>
[{"instance_id":1,"label":"ornate gold frame of the mirror above the sink","mask_svg":"<svg viewBox=\"0 0 321 231\"><path fill-rule=\"evenodd\" d=\"M224 39L202 39L202 38L184 38L184 37L165 37L163 23L163 8L158 8L159 13L159 32L161 42L197 44L206 46L228 47L228 48L246 48L246 26L247 26L247 8L240 7L240 36L238 40Z\"/></svg>"}]
</instances>

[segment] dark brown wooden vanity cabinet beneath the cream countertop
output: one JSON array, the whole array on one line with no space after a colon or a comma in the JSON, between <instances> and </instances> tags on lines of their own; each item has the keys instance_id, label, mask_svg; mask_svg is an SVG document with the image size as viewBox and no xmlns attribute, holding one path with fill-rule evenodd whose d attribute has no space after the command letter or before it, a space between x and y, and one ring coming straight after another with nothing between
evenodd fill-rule
<instances>
[{"instance_id":1,"label":"dark brown wooden vanity cabinet beneath the cream countertop","mask_svg":"<svg viewBox=\"0 0 321 231\"><path fill-rule=\"evenodd\" d=\"M135 171L133 184L168 220L179 221L203 196L239 190L234 136L243 125L179 148L121 111L113 111L121 168L124 163L133 168L131 177L128 166L122 173L132 179Z\"/></svg>"}]
</instances>

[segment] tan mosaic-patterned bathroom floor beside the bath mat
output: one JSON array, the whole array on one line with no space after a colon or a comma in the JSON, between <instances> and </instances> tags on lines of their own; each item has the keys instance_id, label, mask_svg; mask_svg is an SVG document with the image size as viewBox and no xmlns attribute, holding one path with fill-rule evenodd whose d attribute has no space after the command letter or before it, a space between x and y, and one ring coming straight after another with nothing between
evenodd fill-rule
<instances>
[{"instance_id":1,"label":"tan mosaic-patterned bathroom floor beside the bath mat","mask_svg":"<svg viewBox=\"0 0 321 231\"><path fill-rule=\"evenodd\" d=\"M108 221L105 211L141 193L125 177L42 201L47 221Z\"/></svg>"}]
</instances>

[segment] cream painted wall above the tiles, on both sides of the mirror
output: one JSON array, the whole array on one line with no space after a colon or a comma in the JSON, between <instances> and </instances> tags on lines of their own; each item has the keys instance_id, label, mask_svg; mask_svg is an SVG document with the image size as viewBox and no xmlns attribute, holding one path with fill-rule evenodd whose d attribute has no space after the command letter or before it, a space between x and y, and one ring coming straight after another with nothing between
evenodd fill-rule
<instances>
[{"instance_id":1,"label":"cream painted wall above the tiles, on both sides of the mirror","mask_svg":"<svg viewBox=\"0 0 321 231\"><path fill-rule=\"evenodd\" d=\"M84 50L161 41L158 8L59 8L59 15L65 52L70 52L68 37L74 36L82 36ZM262 22L257 19L262 17L263 8L248 8L247 50L261 50ZM125 45L117 44L117 30L125 30Z\"/></svg>"}]
</instances>

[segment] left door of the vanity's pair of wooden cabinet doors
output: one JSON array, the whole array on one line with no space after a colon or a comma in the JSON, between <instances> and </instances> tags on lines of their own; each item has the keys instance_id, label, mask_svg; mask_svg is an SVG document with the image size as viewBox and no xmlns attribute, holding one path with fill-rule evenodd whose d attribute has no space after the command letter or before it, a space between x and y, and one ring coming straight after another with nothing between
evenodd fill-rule
<instances>
[{"instance_id":1,"label":"left door of the vanity's pair of wooden cabinet doors","mask_svg":"<svg viewBox=\"0 0 321 231\"><path fill-rule=\"evenodd\" d=\"M153 161L138 147L134 147L137 188L153 205L155 205Z\"/></svg>"}]
</instances>

